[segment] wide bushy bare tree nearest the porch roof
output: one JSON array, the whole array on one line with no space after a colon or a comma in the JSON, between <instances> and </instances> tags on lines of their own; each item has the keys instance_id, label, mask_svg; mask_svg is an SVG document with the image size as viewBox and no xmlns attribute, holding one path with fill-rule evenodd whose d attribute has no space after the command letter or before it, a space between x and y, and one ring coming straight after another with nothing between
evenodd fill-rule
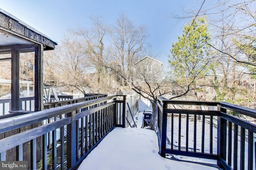
<instances>
[{"instance_id":1,"label":"wide bushy bare tree nearest the porch roof","mask_svg":"<svg viewBox=\"0 0 256 170\"><path fill-rule=\"evenodd\" d=\"M85 93L84 87L88 86L86 73L92 68L84 47L78 37L64 37L56 50L45 58L45 64L48 64L44 72L45 83L56 81L56 86L66 87L70 93L77 89Z\"/></svg>"}]
</instances>

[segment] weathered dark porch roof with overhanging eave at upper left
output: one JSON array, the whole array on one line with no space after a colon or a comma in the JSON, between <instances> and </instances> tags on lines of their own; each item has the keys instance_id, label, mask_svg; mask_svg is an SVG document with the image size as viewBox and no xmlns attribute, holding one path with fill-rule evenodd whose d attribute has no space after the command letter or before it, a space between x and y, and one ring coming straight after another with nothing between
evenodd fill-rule
<instances>
[{"instance_id":1,"label":"weathered dark porch roof with overhanging eave at upper left","mask_svg":"<svg viewBox=\"0 0 256 170\"><path fill-rule=\"evenodd\" d=\"M0 46L12 44L26 44L29 41L42 43L44 50L51 50L57 45L49 37L24 23L12 14L0 8Z\"/></svg>"}]
</instances>

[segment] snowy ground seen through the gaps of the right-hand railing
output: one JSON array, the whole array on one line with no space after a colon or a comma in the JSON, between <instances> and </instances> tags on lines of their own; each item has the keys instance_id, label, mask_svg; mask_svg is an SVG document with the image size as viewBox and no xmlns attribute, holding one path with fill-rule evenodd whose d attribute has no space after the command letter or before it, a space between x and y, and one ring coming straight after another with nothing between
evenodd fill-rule
<instances>
[{"instance_id":1,"label":"snowy ground seen through the gaps of the right-hand railing","mask_svg":"<svg viewBox=\"0 0 256 170\"><path fill-rule=\"evenodd\" d=\"M215 117L216 118L216 117ZM166 144L166 148L171 148L171 117L167 117L167 137L169 141ZM204 132L204 152L210 153L210 119L205 118L205 132ZM173 149L178 149L178 132L179 132L179 118L174 116L174 130L173 130ZM190 117L188 122L188 150L192 151L194 148L194 117ZM217 154L217 119L213 119L213 153ZM228 134L228 128L227 128ZM247 134L246 134L247 135ZM181 149L186 149L186 117L181 118ZM247 136L248 138L248 136ZM248 162L248 141L245 141L245 162ZM255 148L254 148L255 149ZM196 150L202 151L202 119L196 121ZM234 131L232 130L232 153L234 153ZM228 135L227 135L227 154L228 155ZM207 164L217 164L216 160L195 158L181 155L168 155L167 158L176 158L184 161L202 162ZM233 165L232 156L232 165ZM253 164L255 165L255 155L253 158ZM240 136L238 136L238 167L240 167ZM248 164L245 163L245 169L248 168Z\"/></svg>"}]
</instances>

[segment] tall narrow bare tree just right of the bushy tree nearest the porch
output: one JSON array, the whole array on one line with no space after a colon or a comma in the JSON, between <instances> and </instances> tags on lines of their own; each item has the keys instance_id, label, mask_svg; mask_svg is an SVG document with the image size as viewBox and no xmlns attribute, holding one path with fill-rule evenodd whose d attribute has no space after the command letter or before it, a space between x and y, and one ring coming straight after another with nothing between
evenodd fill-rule
<instances>
[{"instance_id":1,"label":"tall narrow bare tree just right of the bushy tree nearest the porch","mask_svg":"<svg viewBox=\"0 0 256 170\"><path fill-rule=\"evenodd\" d=\"M90 63L95 68L94 75L90 81L96 92L105 92L109 89L108 74L103 62L104 58L104 39L106 37L107 28L104 25L104 20L100 16L91 16L92 28L86 29L78 27L70 32L74 36L78 36L84 42L84 52L88 55Z\"/></svg>"}]
</instances>

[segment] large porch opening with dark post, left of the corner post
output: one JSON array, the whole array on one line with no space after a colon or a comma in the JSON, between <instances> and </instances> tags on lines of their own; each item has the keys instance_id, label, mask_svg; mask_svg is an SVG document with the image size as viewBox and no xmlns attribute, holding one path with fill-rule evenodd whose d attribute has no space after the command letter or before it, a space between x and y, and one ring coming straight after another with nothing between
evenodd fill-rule
<instances>
[{"instance_id":1,"label":"large porch opening with dark post, left of the corner post","mask_svg":"<svg viewBox=\"0 0 256 170\"><path fill-rule=\"evenodd\" d=\"M34 111L34 63L34 43L0 31L0 115L17 110ZM18 76L12 77L16 73ZM17 94L12 94L12 86Z\"/></svg>"}]
</instances>

